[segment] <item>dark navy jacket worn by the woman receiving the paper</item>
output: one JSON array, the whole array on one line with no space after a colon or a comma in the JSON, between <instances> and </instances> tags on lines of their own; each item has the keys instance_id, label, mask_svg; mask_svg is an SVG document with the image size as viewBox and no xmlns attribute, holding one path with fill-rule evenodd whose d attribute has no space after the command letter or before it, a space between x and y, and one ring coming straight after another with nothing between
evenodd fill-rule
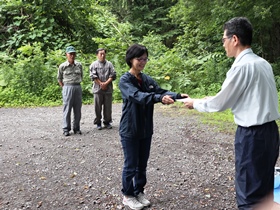
<instances>
[{"instance_id":1,"label":"dark navy jacket worn by the woman receiving the paper","mask_svg":"<svg viewBox=\"0 0 280 210\"><path fill-rule=\"evenodd\" d=\"M174 101L181 97L181 94L160 88L144 73L141 73L141 78L141 86L129 72L120 78L119 88L123 99L120 136L139 139L152 136L154 104L161 102L164 95L170 95Z\"/></svg>"}]
</instances>

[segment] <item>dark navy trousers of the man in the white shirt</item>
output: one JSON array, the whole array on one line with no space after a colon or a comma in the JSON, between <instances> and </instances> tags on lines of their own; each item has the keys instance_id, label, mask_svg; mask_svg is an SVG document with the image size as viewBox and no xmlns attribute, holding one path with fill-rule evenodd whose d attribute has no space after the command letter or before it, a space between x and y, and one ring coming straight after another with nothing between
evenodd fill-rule
<instances>
[{"instance_id":1,"label":"dark navy trousers of the man in the white shirt","mask_svg":"<svg viewBox=\"0 0 280 210\"><path fill-rule=\"evenodd\" d=\"M235 188L239 210L252 210L271 199L274 167L279 155L275 121L259 126L238 126L235 136Z\"/></svg>"}]
</instances>

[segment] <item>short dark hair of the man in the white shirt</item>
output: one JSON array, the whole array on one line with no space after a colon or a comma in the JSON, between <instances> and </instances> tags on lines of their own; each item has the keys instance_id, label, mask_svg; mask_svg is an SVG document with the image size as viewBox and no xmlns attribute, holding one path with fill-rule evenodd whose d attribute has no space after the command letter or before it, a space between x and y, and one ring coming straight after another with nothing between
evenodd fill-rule
<instances>
[{"instance_id":1,"label":"short dark hair of the man in the white shirt","mask_svg":"<svg viewBox=\"0 0 280 210\"><path fill-rule=\"evenodd\" d=\"M253 27L246 17L235 17L224 24L227 37L237 36L243 46L252 44Z\"/></svg>"}]
</instances>

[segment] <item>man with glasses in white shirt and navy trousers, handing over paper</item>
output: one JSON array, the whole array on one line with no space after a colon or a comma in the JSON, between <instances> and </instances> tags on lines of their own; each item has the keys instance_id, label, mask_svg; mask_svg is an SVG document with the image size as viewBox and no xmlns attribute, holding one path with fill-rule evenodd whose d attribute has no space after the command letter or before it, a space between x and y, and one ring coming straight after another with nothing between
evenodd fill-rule
<instances>
[{"instance_id":1,"label":"man with glasses in white shirt and navy trousers, handing over paper","mask_svg":"<svg viewBox=\"0 0 280 210\"><path fill-rule=\"evenodd\" d=\"M185 106L200 112L231 109L238 125L235 135L235 188L239 210L269 209L274 167L279 155L275 122L278 95L271 65L251 49L253 29L247 18L224 24L223 47L235 61L221 91L204 99L189 98ZM264 207L263 205L266 205Z\"/></svg>"}]
</instances>

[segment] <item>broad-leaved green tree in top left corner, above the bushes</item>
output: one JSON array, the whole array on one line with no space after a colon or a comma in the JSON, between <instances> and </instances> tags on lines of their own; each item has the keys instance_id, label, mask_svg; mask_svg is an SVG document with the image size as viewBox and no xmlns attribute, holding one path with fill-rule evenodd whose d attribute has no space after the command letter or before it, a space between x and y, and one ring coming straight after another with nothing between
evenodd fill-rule
<instances>
[{"instance_id":1,"label":"broad-leaved green tree in top left corner, above the bushes","mask_svg":"<svg viewBox=\"0 0 280 210\"><path fill-rule=\"evenodd\" d=\"M1 50L43 43L43 50L79 45L92 52L96 33L88 21L90 0L3 0L0 5ZM91 30L88 30L88 29Z\"/></svg>"}]
</instances>

